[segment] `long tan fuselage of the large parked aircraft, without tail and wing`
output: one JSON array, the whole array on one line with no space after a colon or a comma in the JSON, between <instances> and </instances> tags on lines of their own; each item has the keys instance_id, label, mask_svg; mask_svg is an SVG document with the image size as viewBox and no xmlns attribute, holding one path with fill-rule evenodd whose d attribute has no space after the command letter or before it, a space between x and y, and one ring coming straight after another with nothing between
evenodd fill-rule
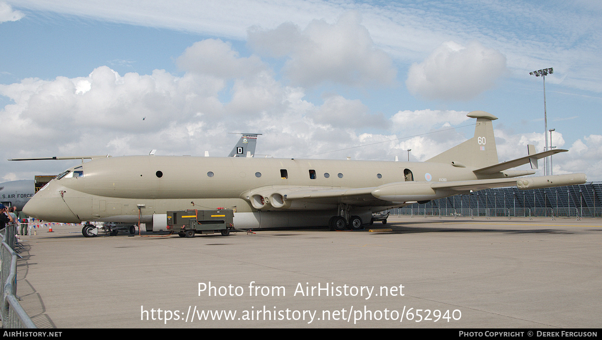
<instances>
[{"instance_id":1,"label":"long tan fuselage of the large parked aircraft, without tail and wing","mask_svg":"<svg viewBox=\"0 0 602 340\"><path fill-rule=\"evenodd\" d=\"M338 203L353 203L367 216L405 202L359 196L339 200L295 200L278 207L253 202L258 191L307 187L353 189L392 182L445 182L477 179L470 168L429 162L352 161L327 159L211 158L193 156L122 156L95 159L72 167L31 199L25 212L43 220L131 221L149 223L152 215L179 209L235 208L238 226L258 227L258 212L294 212L307 225L325 225ZM408 173L410 174L408 176ZM61 176L59 176L61 177ZM450 193L452 194L452 193ZM438 197L449 196L442 191ZM427 197L429 199L432 199ZM268 197L265 197L268 200ZM191 205L194 202L195 207ZM265 203L264 206L260 206ZM260 207L259 207L260 206ZM140 207L140 208L139 208ZM259 207L259 208L258 208ZM319 221L309 221L309 212ZM247 214L243 218L244 214ZM140 216L139 216L140 215ZM367 217L365 217L367 218ZM275 223L275 222L274 222ZM281 223L287 224L286 220ZM303 223L300 221L299 223ZM265 220L261 225L272 224ZM291 224L291 223L288 223Z\"/></svg>"}]
</instances>

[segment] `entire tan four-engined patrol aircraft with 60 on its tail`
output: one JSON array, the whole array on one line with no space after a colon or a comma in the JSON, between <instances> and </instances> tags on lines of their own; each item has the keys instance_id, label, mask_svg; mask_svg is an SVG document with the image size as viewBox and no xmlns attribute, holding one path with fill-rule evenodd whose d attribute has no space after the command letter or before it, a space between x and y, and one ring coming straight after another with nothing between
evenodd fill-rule
<instances>
[{"instance_id":1,"label":"entire tan four-engined patrol aircraft with 60 on its tail","mask_svg":"<svg viewBox=\"0 0 602 340\"><path fill-rule=\"evenodd\" d=\"M498 162L494 115L472 111L474 137L424 162L196 156L98 158L65 170L23 208L64 223L129 221L166 229L166 212L235 209L238 229L361 229L373 212L485 188L583 184L586 175L508 170L566 150ZM84 226L84 236L94 236Z\"/></svg>"}]
</instances>

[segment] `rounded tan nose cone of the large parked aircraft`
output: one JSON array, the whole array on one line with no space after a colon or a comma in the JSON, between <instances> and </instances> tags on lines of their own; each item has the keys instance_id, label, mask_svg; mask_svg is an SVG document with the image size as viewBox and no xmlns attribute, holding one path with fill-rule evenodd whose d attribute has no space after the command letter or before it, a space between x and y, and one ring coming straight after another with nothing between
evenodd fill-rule
<instances>
[{"instance_id":1,"label":"rounded tan nose cone of the large parked aircraft","mask_svg":"<svg viewBox=\"0 0 602 340\"><path fill-rule=\"evenodd\" d=\"M23 212L40 220L63 223L79 223L79 218L67 206L57 190L38 191L23 207Z\"/></svg>"}]
</instances>

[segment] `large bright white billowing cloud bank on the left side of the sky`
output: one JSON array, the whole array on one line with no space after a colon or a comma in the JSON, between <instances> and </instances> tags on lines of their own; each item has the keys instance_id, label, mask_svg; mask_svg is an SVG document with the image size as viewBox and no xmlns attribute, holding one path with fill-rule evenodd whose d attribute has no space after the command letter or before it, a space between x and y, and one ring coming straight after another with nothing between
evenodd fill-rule
<instances>
[{"instance_id":1,"label":"large bright white billowing cloud bank on the left side of the sky","mask_svg":"<svg viewBox=\"0 0 602 340\"><path fill-rule=\"evenodd\" d=\"M0 94L14 102L0 115L3 125L11 126L4 133L6 145L29 156L79 155L86 149L140 152L157 143L146 137L169 131L170 122L185 126L199 113L209 113L203 117L206 122L219 122L222 105L217 93L222 87L216 79L190 73L181 78L163 70L120 76L102 66L86 77L28 78L0 85ZM127 148L110 147L111 140L124 134L132 137Z\"/></svg>"}]
</instances>

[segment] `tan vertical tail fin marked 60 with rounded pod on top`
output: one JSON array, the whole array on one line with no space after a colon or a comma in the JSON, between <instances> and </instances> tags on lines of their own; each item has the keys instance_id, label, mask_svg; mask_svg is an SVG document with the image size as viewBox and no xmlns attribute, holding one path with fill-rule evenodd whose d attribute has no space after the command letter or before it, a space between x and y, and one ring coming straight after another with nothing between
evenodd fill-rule
<instances>
[{"instance_id":1,"label":"tan vertical tail fin marked 60 with rounded pod on top","mask_svg":"<svg viewBox=\"0 0 602 340\"><path fill-rule=\"evenodd\" d=\"M477 119L474 137L452 147L452 149L439 153L439 155L428 159L427 162L452 163L455 166L477 168L497 164L497 149L495 148L493 123L491 122L497 117L485 111L472 111L466 116Z\"/></svg>"}]
</instances>

